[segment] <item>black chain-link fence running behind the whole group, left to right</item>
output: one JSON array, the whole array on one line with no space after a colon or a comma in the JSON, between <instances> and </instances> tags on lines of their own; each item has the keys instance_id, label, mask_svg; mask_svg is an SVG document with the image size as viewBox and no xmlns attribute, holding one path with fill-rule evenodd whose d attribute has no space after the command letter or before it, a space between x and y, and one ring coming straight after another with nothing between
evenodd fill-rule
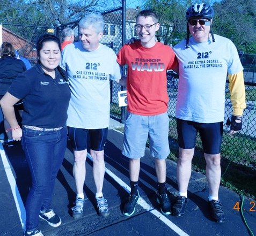
<instances>
[{"instance_id":1,"label":"black chain-link fence running behind the whole group, left to right","mask_svg":"<svg viewBox=\"0 0 256 236\"><path fill-rule=\"evenodd\" d=\"M101 43L112 48L117 54L122 47L122 9L121 7L102 13L105 19L104 36ZM13 44L14 48L19 51L20 56L30 60L32 66L36 63L37 54L35 50L36 41L40 35L52 33L60 37L62 41L62 31L66 27L74 29L75 41L78 40L78 22L69 22L68 24L49 28L46 26L29 26L29 25L13 25L2 24L2 41ZM240 60L244 66L244 78L246 88L246 104L247 108L243 115L243 130L233 137L228 135L228 129L224 125L223 143L221 149L222 158L233 163L246 166L252 170L256 169L256 142L255 127L256 115L255 99L256 99L256 73L255 73L255 56L248 54L239 54ZM111 81L111 118L124 122L126 108L120 108L118 103L118 91L121 86ZM230 101L229 81L226 81L226 105L225 120L232 114L232 104ZM178 77L171 72L167 73L167 92L169 94L169 117L170 117L170 147L178 149L178 136L175 120L175 105L177 100ZM202 144L198 137L196 142L196 150L202 152Z\"/></svg>"}]
</instances>

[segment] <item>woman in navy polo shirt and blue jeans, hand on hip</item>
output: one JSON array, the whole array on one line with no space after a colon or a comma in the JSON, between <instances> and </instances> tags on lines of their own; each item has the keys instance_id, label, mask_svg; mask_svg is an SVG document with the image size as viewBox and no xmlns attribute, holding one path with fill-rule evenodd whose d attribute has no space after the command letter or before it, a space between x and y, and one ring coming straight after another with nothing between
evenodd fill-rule
<instances>
[{"instance_id":1,"label":"woman in navy polo shirt and blue jeans, hand on hip","mask_svg":"<svg viewBox=\"0 0 256 236\"><path fill-rule=\"evenodd\" d=\"M67 109L70 99L67 73L58 66L61 43L54 35L43 35L36 45L38 63L19 75L1 100L14 141L21 140L31 171L32 187L26 201L27 235L43 236L39 217L57 227L61 219L51 208L57 172L67 147ZM23 100L23 128L13 105Z\"/></svg>"}]
</instances>

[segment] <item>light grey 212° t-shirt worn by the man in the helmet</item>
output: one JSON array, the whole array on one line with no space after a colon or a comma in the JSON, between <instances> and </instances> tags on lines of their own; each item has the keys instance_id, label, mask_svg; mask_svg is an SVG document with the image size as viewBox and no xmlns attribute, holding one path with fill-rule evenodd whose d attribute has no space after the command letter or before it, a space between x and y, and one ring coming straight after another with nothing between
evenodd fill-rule
<instances>
[{"instance_id":1,"label":"light grey 212\u00b0 t-shirt worn by the man in the helmet","mask_svg":"<svg viewBox=\"0 0 256 236\"><path fill-rule=\"evenodd\" d=\"M189 39L173 48L179 61L176 117L198 123L217 123L224 119L227 74L243 71L235 45L214 35L202 43Z\"/></svg>"}]
</instances>

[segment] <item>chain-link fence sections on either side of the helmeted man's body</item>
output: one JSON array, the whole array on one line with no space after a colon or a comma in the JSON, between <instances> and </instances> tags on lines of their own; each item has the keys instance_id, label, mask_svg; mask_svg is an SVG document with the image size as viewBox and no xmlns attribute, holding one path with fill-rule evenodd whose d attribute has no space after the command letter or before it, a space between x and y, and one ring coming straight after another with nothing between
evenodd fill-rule
<instances>
[{"instance_id":1,"label":"chain-link fence sections on either side of the helmeted man's body","mask_svg":"<svg viewBox=\"0 0 256 236\"><path fill-rule=\"evenodd\" d=\"M246 168L256 170L256 72L255 56L249 54L239 54L244 67L246 109L243 113L243 128L239 133L229 136L228 128L224 125L223 142L221 156L227 161L231 161ZM178 134L175 119L175 106L177 100L178 76L173 72L167 72L167 92L169 94L169 117L170 117L170 146L171 149L178 150ZM225 87L225 118L232 115L232 103L230 100L229 81L226 80ZM198 135L196 140L196 150L202 153L202 143Z\"/></svg>"}]
</instances>

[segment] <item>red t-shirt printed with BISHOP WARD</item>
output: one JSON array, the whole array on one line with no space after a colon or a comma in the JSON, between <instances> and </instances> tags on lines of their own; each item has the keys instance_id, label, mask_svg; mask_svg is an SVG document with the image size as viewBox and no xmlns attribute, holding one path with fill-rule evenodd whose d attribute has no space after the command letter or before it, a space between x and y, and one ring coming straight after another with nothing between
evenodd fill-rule
<instances>
[{"instance_id":1,"label":"red t-shirt printed with BISHOP WARD","mask_svg":"<svg viewBox=\"0 0 256 236\"><path fill-rule=\"evenodd\" d=\"M178 66L172 48L156 42L145 48L140 41L123 45L118 63L128 65L127 110L142 116L159 115L167 111L166 70Z\"/></svg>"}]
</instances>

